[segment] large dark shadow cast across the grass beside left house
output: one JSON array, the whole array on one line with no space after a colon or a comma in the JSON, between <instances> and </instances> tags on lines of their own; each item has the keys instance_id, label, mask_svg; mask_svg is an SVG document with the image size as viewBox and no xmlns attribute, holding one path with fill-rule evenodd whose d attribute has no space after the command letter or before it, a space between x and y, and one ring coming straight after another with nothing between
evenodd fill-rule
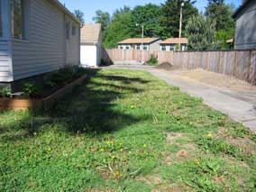
<instances>
[{"instance_id":1,"label":"large dark shadow cast across the grass beside left house","mask_svg":"<svg viewBox=\"0 0 256 192\"><path fill-rule=\"evenodd\" d=\"M143 92L143 89L129 85L146 84L149 81L142 78L98 74L99 71L100 69L88 69L85 84L76 87L73 94L59 101L50 111L30 111L22 119L14 120L8 124L8 127L2 127L3 130L14 128L17 131L24 131L21 134L11 133L4 137L2 135L2 139L16 141L32 138L35 133L43 131L45 127L49 128L54 125L59 125L61 131L71 134L87 133L97 136L102 133L112 133L130 124L146 121L148 116L134 116L126 113L128 109L131 110L130 106L121 107L114 101L133 93ZM103 80L96 81L94 78ZM111 81L117 82L118 85L112 84Z\"/></svg>"}]
</instances>

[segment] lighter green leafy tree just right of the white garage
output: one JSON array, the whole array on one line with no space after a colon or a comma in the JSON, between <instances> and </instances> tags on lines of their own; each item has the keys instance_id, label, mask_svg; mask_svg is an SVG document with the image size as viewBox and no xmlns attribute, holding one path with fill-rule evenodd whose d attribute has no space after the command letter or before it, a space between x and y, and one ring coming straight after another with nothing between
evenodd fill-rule
<instances>
[{"instance_id":1,"label":"lighter green leafy tree just right of the white garage","mask_svg":"<svg viewBox=\"0 0 256 192\"><path fill-rule=\"evenodd\" d=\"M115 48L117 42L132 37L133 29L131 26L131 12L116 14L105 29L103 46L105 48Z\"/></svg>"}]
</instances>

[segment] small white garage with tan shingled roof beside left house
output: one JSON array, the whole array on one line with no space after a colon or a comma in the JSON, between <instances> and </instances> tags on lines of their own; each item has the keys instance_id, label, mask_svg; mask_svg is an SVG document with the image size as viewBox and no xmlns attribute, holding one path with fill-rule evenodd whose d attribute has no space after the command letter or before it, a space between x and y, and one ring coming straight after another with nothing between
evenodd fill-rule
<instances>
[{"instance_id":1,"label":"small white garage with tan shingled roof beside left house","mask_svg":"<svg viewBox=\"0 0 256 192\"><path fill-rule=\"evenodd\" d=\"M101 61L101 24L86 24L81 29L81 65L97 67Z\"/></svg>"}]
</instances>

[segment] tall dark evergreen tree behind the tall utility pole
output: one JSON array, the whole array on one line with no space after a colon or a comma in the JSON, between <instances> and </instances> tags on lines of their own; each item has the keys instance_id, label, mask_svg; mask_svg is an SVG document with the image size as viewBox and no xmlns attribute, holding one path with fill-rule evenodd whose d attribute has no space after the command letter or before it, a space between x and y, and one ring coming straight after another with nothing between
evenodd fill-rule
<instances>
[{"instance_id":1,"label":"tall dark evergreen tree behind the tall utility pole","mask_svg":"<svg viewBox=\"0 0 256 192\"><path fill-rule=\"evenodd\" d=\"M183 2L183 0L167 0L162 5L162 16L160 17L160 25L162 26L160 34L162 38L178 37L180 6ZM185 2L183 7L183 26L187 24L189 18L198 14L194 4L194 0L187 0Z\"/></svg>"}]
</instances>

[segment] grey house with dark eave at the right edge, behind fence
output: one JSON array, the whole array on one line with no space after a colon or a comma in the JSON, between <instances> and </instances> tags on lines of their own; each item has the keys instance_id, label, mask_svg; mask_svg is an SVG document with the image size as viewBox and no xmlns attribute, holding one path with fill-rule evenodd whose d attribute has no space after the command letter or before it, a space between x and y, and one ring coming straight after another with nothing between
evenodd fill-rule
<instances>
[{"instance_id":1,"label":"grey house with dark eave at the right edge, behind fence","mask_svg":"<svg viewBox=\"0 0 256 192\"><path fill-rule=\"evenodd\" d=\"M233 18L236 20L234 49L256 49L256 0L247 0Z\"/></svg>"}]
</instances>

